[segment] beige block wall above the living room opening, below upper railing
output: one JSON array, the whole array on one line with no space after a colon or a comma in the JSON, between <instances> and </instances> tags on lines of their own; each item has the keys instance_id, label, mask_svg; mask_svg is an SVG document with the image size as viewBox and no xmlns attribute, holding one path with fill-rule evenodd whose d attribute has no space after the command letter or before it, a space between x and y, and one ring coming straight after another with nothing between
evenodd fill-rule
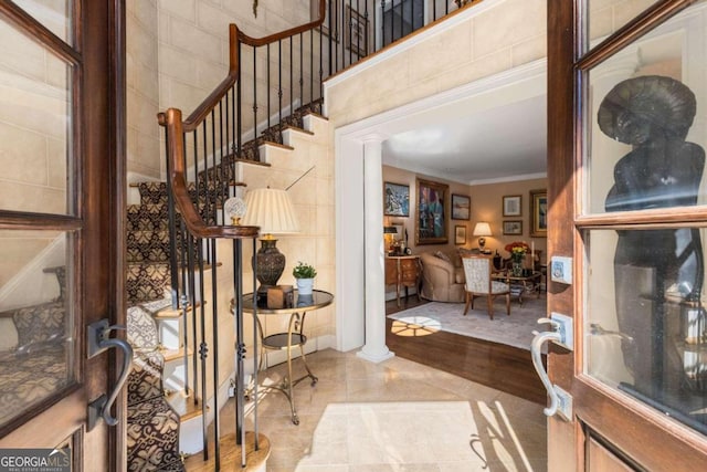
<instances>
[{"instance_id":1,"label":"beige block wall above the living room opening, below upper railing","mask_svg":"<svg viewBox=\"0 0 707 472\"><path fill-rule=\"evenodd\" d=\"M331 129L545 57L546 2L485 0L468 10L485 8L482 13L462 12L468 19L460 24L439 28L383 62L359 65L355 77L327 88Z\"/></svg>"}]
</instances>

